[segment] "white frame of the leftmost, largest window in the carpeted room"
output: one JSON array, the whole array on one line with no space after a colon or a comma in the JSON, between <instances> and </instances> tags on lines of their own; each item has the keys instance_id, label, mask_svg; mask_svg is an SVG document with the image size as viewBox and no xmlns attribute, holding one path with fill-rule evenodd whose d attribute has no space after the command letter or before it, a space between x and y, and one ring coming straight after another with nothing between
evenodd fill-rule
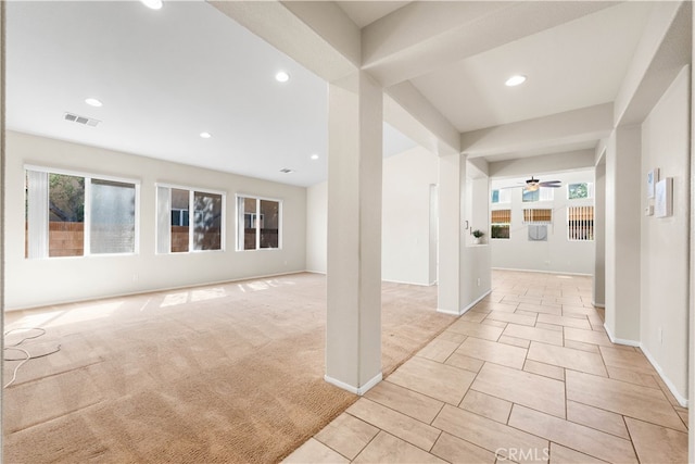
<instances>
[{"instance_id":1,"label":"white frame of the leftmost, largest window in the carpeted room","mask_svg":"<svg viewBox=\"0 0 695 464\"><path fill-rule=\"evenodd\" d=\"M48 167L48 166L41 166L41 165L36 165L36 164L24 164L24 173L25 173L25 183L26 183L26 172L27 171L34 171L37 173L45 173L47 175L51 175L51 174L58 174L58 175L62 175L62 176L73 176L73 177L81 177L85 179L85 203L84 203L84 210L85 210L85 218L84 218L84 231L83 231L83 254L81 255L75 255L75 256L51 256L49 254L49 244L47 241L46 244L46 255L43 256L28 256L28 252L25 251L25 260L56 260L56 259L80 259L80 258L93 258L93 256L100 256L100 258L113 258L113 256L135 256L140 254L140 187L141 187L141 180L138 178L131 178L131 177L119 177L119 176L113 176L113 175L108 175L108 174L99 174L99 173L87 173L84 171L76 171L76 170L66 170L66 168L62 168L62 167ZM119 183L119 184L132 184L135 186L135 214L134 214L134 243L132 243L132 251L129 252L124 252L124 253L92 253L91 252L91 180L92 179L98 179L98 180L105 180L105 181L112 181L112 183ZM48 205L48 198L47 200L47 205ZM27 186L25 185L25 202L28 201L28 191L27 191ZM27 211L28 213L28 211ZM28 214L25 213L25 222L28 223L29 217ZM50 221L49 221L50 223ZM27 242L30 240L30 236L29 236L29 231L25 231L25 240L27 240ZM48 237L46 238L48 240Z\"/></svg>"}]
</instances>

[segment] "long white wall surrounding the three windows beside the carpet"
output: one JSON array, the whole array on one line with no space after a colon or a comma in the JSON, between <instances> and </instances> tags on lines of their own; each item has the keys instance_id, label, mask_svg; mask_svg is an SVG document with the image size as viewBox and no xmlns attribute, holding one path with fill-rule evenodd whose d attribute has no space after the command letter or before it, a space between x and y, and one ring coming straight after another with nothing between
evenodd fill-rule
<instances>
[{"instance_id":1,"label":"long white wall surrounding the three windows beside the carpet","mask_svg":"<svg viewBox=\"0 0 695 464\"><path fill-rule=\"evenodd\" d=\"M137 255L24 258L24 165L140 179ZM301 272L306 193L301 187L213 172L18 133L7 133L5 308L21 309L156 289ZM155 183L227 193L225 251L155 254ZM235 195L282 200L281 250L236 251Z\"/></svg>"}]
</instances>

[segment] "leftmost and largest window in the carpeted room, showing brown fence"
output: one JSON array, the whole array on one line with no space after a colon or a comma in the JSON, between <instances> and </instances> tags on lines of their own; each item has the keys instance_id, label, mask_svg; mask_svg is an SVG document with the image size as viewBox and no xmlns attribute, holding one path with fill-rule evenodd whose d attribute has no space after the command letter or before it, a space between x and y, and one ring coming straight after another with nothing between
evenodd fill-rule
<instances>
[{"instance_id":1,"label":"leftmost and largest window in the carpeted room, showing brown fence","mask_svg":"<svg viewBox=\"0 0 695 464\"><path fill-rule=\"evenodd\" d=\"M136 253L139 184L26 168L25 256Z\"/></svg>"}]
</instances>

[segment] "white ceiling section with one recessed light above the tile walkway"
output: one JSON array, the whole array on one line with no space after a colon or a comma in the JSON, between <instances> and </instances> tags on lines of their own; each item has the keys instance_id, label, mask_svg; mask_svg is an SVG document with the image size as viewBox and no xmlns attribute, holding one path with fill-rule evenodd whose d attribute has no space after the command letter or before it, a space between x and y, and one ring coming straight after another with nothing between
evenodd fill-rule
<instances>
[{"instance_id":1,"label":"white ceiling section with one recessed light above the tile walkway","mask_svg":"<svg viewBox=\"0 0 695 464\"><path fill-rule=\"evenodd\" d=\"M626 2L412 81L462 133L611 102L650 9ZM506 87L514 74L528 80Z\"/></svg>"}]
</instances>

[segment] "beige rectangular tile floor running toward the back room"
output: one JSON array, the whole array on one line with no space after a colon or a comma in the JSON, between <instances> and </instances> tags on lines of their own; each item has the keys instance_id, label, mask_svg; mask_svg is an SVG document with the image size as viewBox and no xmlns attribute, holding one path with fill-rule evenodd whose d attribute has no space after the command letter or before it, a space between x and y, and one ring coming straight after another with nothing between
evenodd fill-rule
<instances>
[{"instance_id":1,"label":"beige rectangular tile floor running toward the back room","mask_svg":"<svg viewBox=\"0 0 695 464\"><path fill-rule=\"evenodd\" d=\"M493 283L285 462L687 462L687 410L640 349L610 342L591 278Z\"/></svg>"}]
</instances>

